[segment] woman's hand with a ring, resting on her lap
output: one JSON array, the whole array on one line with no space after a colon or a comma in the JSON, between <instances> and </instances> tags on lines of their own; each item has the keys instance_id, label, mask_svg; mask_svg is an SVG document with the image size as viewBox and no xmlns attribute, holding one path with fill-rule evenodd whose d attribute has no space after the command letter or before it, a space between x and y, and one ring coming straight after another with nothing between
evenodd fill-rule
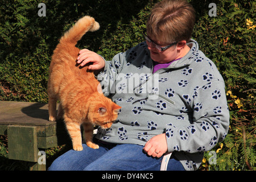
<instances>
[{"instance_id":1,"label":"woman's hand with a ring, resting on her lap","mask_svg":"<svg viewBox=\"0 0 256 182\"><path fill-rule=\"evenodd\" d=\"M160 158L164 153L167 152L166 134L156 135L147 141L143 150L147 152L147 155L154 158Z\"/></svg>"}]
</instances>

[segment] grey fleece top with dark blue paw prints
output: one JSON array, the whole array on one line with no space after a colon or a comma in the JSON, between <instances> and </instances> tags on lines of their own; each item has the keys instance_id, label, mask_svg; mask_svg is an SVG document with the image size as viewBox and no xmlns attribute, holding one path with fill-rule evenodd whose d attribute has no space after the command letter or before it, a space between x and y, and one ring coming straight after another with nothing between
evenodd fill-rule
<instances>
[{"instance_id":1,"label":"grey fleece top with dark blue paw prints","mask_svg":"<svg viewBox=\"0 0 256 182\"><path fill-rule=\"evenodd\" d=\"M186 170L199 168L204 152L226 137L229 111L216 66L195 40L187 45L187 55L155 73L145 42L105 61L98 80L105 96L122 109L117 122L96 138L144 146L166 133L168 152Z\"/></svg>"}]
</instances>

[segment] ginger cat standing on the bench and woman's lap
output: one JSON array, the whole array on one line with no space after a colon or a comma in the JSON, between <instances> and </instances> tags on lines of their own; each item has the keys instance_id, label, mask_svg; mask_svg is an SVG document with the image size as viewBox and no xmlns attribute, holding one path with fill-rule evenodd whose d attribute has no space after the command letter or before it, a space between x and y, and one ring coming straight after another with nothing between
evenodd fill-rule
<instances>
[{"instance_id":1,"label":"ginger cat standing on the bench and woman's lap","mask_svg":"<svg viewBox=\"0 0 256 182\"><path fill-rule=\"evenodd\" d=\"M72 139L73 150L82 150L80 126L84 127L84 139L90 148L98 148L92 142L93 125L108 129L117 119L120 106L105 97L100 83L88 65L77 67L80 49L75 47L87 31L100 28L90 16L84 16L67 31L53 51L48 79L49 121L63 117ZM56 102L60 101L56 114Z\"/></svg>"}]
</instances>

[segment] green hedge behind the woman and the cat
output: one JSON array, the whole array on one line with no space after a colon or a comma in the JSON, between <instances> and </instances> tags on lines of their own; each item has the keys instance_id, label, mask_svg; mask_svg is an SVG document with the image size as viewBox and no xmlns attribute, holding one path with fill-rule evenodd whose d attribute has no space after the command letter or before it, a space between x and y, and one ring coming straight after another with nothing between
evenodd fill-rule
<instances>
[{"instance_id":1,"label":"green hedge behind the woman and the cat","mask_svg":"<svg viewBox=\"0 0 256 182\"><path fill-rule=\"evenodd\" d=\"M48 67L53 49L65 31L84 15L93 16L100 30L89 32L77 45L107 60L143 41L151 7L159 0L95 0L0 2L0 100L47 103ZM254 0L191 0L197 22L193 39L214 61L226 82L230 130L218 144L217 164L209 152L201 169L256 169L255 156L255 11ZM46 16L38 16L39 3ZM216 16L209 16L217 5Z\"/></svg>"}]
</instances>

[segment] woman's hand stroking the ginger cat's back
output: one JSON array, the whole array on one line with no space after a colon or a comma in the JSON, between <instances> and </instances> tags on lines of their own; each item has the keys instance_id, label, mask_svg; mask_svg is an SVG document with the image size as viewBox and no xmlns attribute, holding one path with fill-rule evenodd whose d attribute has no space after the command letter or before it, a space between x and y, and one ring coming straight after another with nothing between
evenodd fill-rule
<instances>
[{"instance_id":1,"label":"woman's hand stroking the ginger cat's back","mask_svg":"<svg viewBox=\"0 0 256 182\"><path fill-rule=\"evenodd\" d=\"M89 51L88 49L81 49L79 54L79 57L77 57L77 63L81 63L81 67L90 62L93 64L89 65L88 69L100 70L105 67L104 59L96 52Z\"/></svg>"}]
</instances>

